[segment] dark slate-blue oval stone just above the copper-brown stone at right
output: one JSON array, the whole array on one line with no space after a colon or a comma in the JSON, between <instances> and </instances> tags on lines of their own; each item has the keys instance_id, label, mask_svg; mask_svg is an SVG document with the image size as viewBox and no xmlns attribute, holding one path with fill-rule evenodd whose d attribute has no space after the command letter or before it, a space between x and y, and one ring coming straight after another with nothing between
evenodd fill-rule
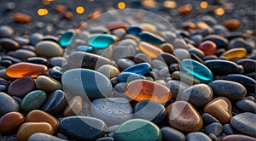
<instances>
[{"instance_id":1,"label":"dark slate-blue oval stone just above the copper-brown stone at right","mask_svg":"<svg viewBox=\"0 0 256 141\"><path fill-rule=\"evenodd\" d=\"M247 94L246 87L238 82L230 82L225 80L216 80L209 83L212 87L213 93L218 96L224 96L231 100L244 98Z\"/></svg>"}]
</instances>

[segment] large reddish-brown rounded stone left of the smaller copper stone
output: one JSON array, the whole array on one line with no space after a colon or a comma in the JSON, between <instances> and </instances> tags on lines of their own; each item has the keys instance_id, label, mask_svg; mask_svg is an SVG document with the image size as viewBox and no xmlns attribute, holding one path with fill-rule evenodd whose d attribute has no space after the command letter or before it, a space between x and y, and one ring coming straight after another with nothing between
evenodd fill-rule
<instances>
[{"instance_id":1,"label":"large reddish-brown rounded stone left of the smaller copper stone","mask_svg":"<svg viewBox=\"0 0 256 141\"><path fill-rule=\"evenodd\" d=\"M185 101L176 101L167 107L167 111L167 121L179 131L195 132L201 130L203 122L193 105Z\"/></svg>"}]
</instances>

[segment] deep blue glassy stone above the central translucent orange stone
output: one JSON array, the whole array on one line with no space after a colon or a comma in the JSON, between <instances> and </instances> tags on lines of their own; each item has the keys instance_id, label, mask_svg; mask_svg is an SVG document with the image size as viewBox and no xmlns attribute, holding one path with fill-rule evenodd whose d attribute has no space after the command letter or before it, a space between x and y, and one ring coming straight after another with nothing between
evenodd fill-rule
<instances>
[{"instance_id":1,"label":"deep blue glassy stone above the central translucent orange stone","mask_svg":"<svg viewBox=\"0 0 256 141\"><path fill-rule=\"evenodd\" d=\"M123 72L136 73L138 75L145 75L150 71L150 65L148 63L140 63L137 65L132 65L129 68L126 68Z\"/></svg>"}]
</instances>

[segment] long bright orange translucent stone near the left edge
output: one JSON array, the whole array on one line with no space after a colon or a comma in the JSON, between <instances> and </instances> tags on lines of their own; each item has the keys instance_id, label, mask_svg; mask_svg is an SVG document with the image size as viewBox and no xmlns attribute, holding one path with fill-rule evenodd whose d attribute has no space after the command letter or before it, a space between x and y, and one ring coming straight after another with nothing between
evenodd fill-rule
<instances>
[{"instance_id":1,"label":"long bright orange translucent stone near the left edge","mask_svg":"<svg viewBox=\"0 0 256 141\"><path fill-rule=\"evenodd\" d=\"M10 65L6 69L6 75L12 78L21 78L24 76L38 77L47 71L48 69L45 65L21 62L15 65Z\"/></svg>"}]
</instances>

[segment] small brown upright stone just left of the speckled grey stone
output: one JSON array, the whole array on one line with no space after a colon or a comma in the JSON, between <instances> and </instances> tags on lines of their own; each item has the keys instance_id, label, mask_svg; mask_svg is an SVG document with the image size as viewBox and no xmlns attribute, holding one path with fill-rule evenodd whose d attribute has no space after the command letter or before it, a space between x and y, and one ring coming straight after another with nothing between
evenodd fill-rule
<instances>
[{"instance_id":1,"label":"small brown upright stone just left of the speckled grey stone","mask_svg":"<svg viewBox=\"0 0 256 141\"><path fill-rule=\"evenodd\" d=\"M83 110L82 102L83 99L80 96L76 96L73 99L71 99L68 102L66 109L64 110L64 116L78 115L81 112L81 110Z\"/></svg>"}]
</instances>

